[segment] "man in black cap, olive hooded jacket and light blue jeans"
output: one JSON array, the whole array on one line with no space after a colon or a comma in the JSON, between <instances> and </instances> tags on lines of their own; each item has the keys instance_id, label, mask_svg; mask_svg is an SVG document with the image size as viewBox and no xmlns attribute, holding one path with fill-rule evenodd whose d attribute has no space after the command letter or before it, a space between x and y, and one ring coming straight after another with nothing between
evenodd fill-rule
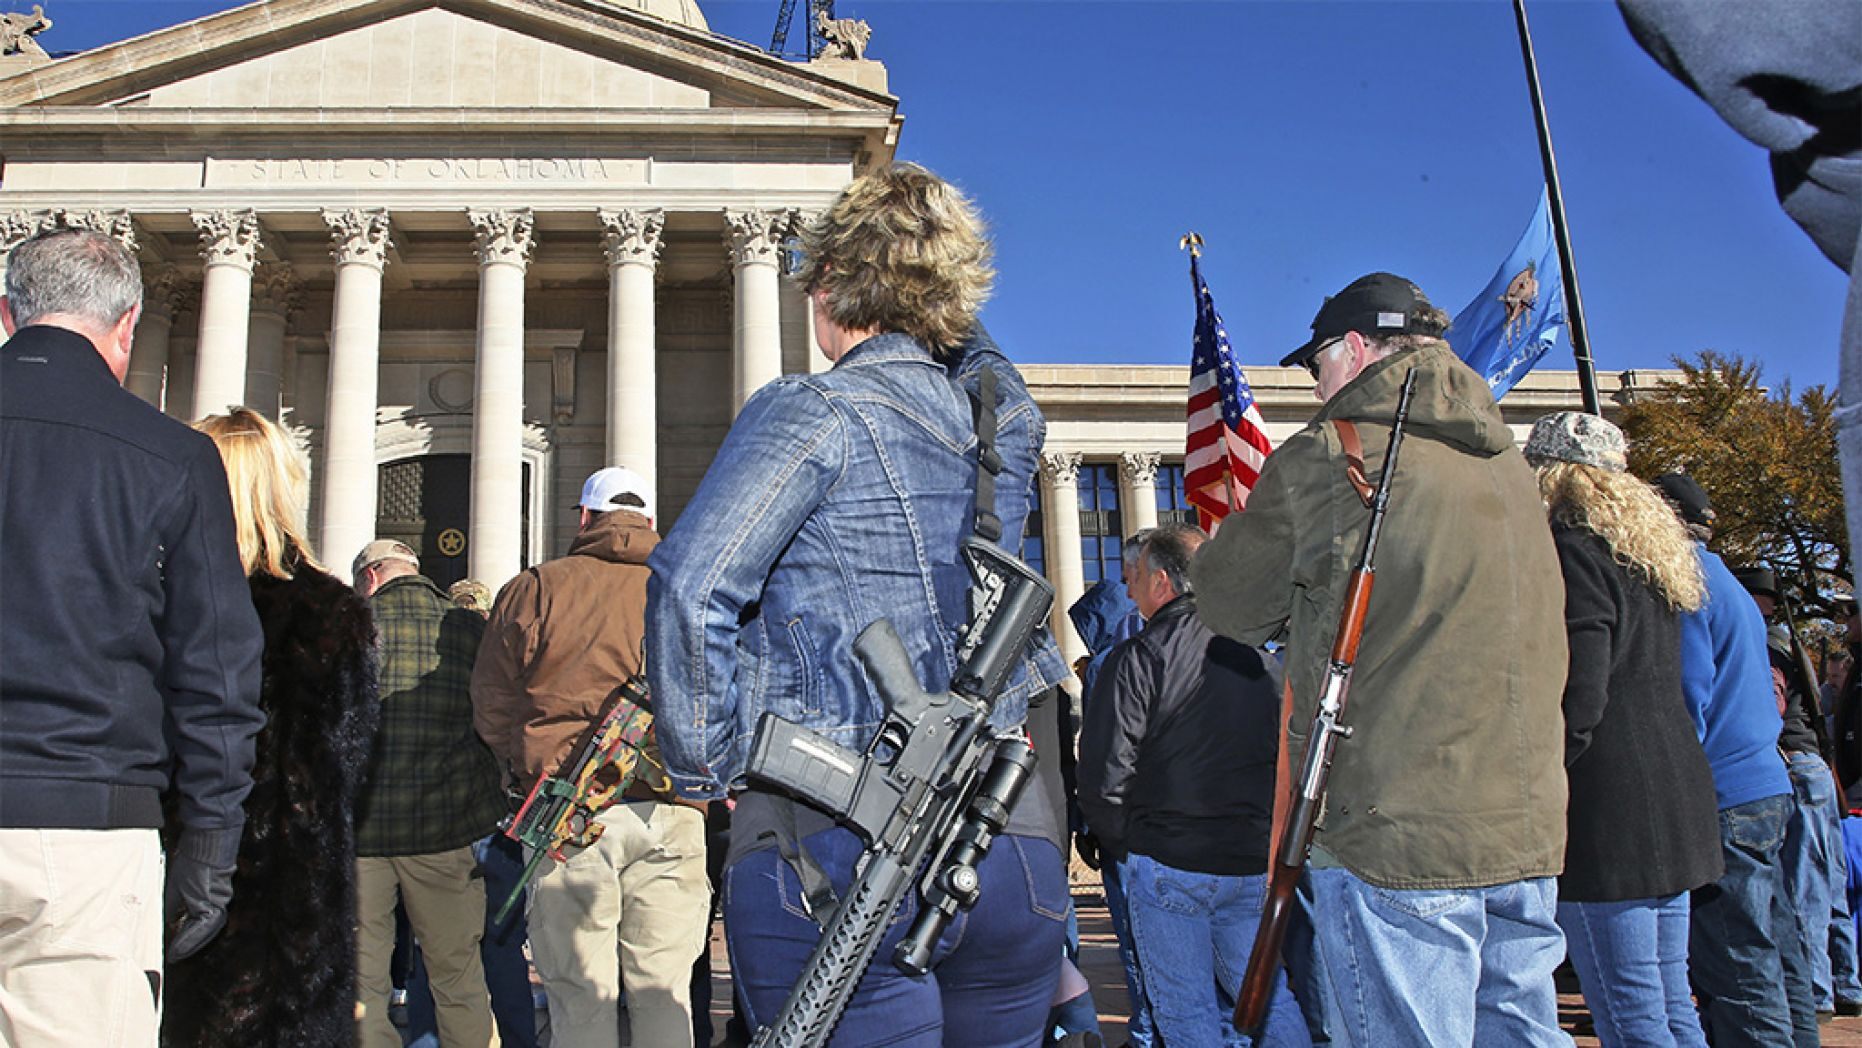
<instances>
[{"instance_id":1,"label":"man in black cap, olive hooded jacket and light blue jeans","mask_svg":"<svg viewBox=\"0 0 1862 1048\"><path fill-rule=\"evenodd\" d=\"M1313 372L1324 408L1268 458L1192 579L1216 633L1285 640L1287 754L1300 767L1370 517L1361 482L1382 473L1415 370L1344 713L1354 733L1311 858L1333 1037L1570 1044L1551 983L1564 957L1564 583L1532 471L1488 385L1441 341L1447 328L1391 274L1328 298L1313 339L1281 361Z\"/></svg>"}]
</instances>

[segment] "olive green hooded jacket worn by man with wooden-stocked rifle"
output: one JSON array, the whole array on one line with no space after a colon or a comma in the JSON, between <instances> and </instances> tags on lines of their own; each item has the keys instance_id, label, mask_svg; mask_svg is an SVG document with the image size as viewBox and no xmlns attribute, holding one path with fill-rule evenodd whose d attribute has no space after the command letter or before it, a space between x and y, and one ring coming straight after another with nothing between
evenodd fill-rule
<instances>
[{"instance_id":1,"label":"olive green hooded jacket worn by man with wooden-stocked rifle","mask_svg":"<svg viewBox=\"0 0 1862 1048\"><path fill-rule=\"evenodd\" d=\"M1445 346L1367 367L1268 456L1248 508L1192 566L1210 629L1285 627L1300 767L1370 510L1331 419L1382 475L1404 374L1415 398L1316 845L1383 888L1480 888L1564 864L1564 579L1532 469L1488 385Z\"/></svg>"}]
</instances>

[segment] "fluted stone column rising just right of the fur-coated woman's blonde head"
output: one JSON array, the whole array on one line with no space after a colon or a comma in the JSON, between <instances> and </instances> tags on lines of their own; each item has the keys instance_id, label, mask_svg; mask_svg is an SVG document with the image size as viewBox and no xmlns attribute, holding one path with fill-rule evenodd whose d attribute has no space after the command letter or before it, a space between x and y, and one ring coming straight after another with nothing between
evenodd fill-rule
<instances>
[{"instance_id":1,"label":"fluted stone column rising just right of the fur-coated woman's blonde head","mask_svg":"<svg viewBox=\"0 0 1862 1048\"><path fill-rule=\"evenodd\" d=\"M326 210L335 261L330 374L324 383L324 467L317 477L317 547L348 581L350 560L374 538L374 406L382 382L382 270L387 212Z\"/></svg>"}]
</instances>

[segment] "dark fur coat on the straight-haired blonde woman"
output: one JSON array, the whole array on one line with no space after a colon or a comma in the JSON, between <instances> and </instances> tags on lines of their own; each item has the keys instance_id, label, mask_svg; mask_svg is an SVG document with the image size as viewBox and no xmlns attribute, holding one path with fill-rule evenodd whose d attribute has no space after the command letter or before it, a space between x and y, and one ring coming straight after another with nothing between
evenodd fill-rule
<instances>
[{"instance_id":1,"label":"dark fur coat on the straight-haired blonde woman","mask_svg":"<svg viewBox=\"0 0 1862 1048\"><path fill-rule=\"evenodd\" d=\"M169 1048L356 1042L356 791L380 720L369 605L337 579L251 579L266 713L227 925L168 968Z\"/></svg>"}]
</instances>

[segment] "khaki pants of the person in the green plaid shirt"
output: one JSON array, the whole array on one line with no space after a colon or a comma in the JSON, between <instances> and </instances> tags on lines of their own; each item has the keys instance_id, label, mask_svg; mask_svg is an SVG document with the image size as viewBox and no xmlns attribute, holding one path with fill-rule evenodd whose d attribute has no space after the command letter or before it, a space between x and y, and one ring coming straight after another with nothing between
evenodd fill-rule
<instances>
[{"instance_id":1,"label":"khaki pants of the person in the green plaid shirt","mask_svg":"<svg viewBox=\"0 0 1862 1048\"><path fill-rule=\"evenodd\" d=\"M361 1048L400 1048L387 1020L393 990L395 897L421 940L443 1048L492 1044L492 998L484 988L484 877L471 847L432 854L356 860L356 1001Z\"/></svg>"}]
</instances>

